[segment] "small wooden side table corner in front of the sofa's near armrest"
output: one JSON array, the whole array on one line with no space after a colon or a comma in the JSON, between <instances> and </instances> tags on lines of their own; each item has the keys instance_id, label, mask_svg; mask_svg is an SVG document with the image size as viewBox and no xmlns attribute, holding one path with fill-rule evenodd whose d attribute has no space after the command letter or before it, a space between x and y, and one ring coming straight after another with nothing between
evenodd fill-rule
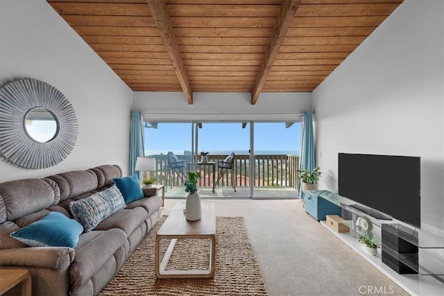
<instances>
[{"instance_id":1,"label":"small wooden side table corner in front of the sofa's near armrest","mask_svg":"<svg viewBox=\"0 0 444 296\"><path fill-rule=\"evenodd\" d=\"M0 295L22 283L22 296L31 296L31 273L26 269L0 269Z\"/></svg>"}]
</instances>

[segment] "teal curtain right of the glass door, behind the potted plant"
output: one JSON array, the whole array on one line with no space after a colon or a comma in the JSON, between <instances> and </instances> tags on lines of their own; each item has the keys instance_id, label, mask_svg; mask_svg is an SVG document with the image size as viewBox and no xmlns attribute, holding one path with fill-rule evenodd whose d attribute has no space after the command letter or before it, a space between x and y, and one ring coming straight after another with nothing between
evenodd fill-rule
<instances>
[{"instance_id":1,"label":"teal curtain right of the glass door, behind the potted plant","mask_svg":"<svg viewBox=\"0 0 444 296\"><path fill-rule=\"evenodd\" d=\"M302 139L300 141L299 169L307 168L313 171L316 167L314 159L314 135L313 135L313 118L311 112L304 112L302 120ZM302 186L299 180L299 198L304 198Z\"/></svg>"}]
</instances>

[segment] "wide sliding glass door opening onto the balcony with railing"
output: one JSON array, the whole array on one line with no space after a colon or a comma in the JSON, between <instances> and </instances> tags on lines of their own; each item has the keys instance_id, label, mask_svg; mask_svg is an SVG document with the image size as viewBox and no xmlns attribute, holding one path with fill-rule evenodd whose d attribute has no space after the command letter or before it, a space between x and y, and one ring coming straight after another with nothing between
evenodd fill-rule
<instances>
[{"instance_id":1,"label":"wide sliding glass door opening onto the balcony with railing","mask_svg":"<svg viewBox=\"0 0 444 296\"><path fill-rule=\"evenodd\" d=\"M168 153L185 175L200 172L202 198L298 198L299 149L298 122L145 122L145 155L155 157L151 175L167 185L167 198L187 196ZM231 153L232 166L220 167Z\"/></svg>"}]
</instances>

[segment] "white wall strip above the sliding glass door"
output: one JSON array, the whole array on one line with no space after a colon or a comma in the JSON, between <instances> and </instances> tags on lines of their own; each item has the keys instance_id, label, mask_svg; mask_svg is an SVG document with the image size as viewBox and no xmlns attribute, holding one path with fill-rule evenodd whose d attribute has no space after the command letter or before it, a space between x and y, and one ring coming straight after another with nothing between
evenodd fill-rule
<instances>
[{"instance_id":1,"label":"white wall strip above the sliding glass door","mask_svg":"<svg viewBox=\"0 0 444 296\"><path fill-rule=\"evenodd\" d=\"M194 93L189 105L183 93L135 92L134 110L146 119L171 121L299 121L311 108L310 93L263 93L251 105L250 93Z\"/></svg>"}]
</instances>

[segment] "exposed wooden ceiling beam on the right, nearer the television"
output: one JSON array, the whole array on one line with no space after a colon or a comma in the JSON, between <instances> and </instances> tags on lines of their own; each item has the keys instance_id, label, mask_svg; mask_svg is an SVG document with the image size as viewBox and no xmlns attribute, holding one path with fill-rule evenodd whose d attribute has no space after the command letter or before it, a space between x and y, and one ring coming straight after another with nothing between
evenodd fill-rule
<instances>
[{"instance_id":1,"label":"exposed wooden ceiling beam on the right, nearer the television","mask_svg":"<svg viewBox=\"0 0 444 296\"><path fill-rule=\"evenodd\" d=\"M270 37L270 41L268 42L268 46L264 53L264 59L262 60L259 74L257 75L255 86L253 87L253 92L251 92L251 105L255 105L257 98L259 98L266 76L268 76L268 72L270 71L271 66L273 66L276 55L279 53L280 46L284 42L287 31L289 31L299 4L300 0L282 1L278 19L276 19L273 28L273 34Z\"/></svg>"}]
</instances>

